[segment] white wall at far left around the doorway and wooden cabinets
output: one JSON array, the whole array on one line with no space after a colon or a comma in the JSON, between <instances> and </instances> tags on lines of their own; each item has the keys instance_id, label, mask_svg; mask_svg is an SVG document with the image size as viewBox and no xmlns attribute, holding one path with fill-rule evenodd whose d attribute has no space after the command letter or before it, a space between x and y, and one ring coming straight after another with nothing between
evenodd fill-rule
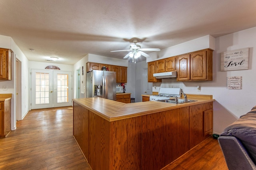
<instances>
[{"instance_id":1,"label":"white wall at far left around the doorway and wooden cabinets","mask_svg":"<svg viewBox=\"0 0 256 170\"><path fill-rule=\"evenodd\" d=\"M16 72L15 72L15 67L16 67L16 59L18 59L21 62L21 72L22 72L22 77L21 77L21 94L22 95L22 101L21 102L21 109L19 110L20 112L18 113L20 117L26 115L28 112L28 104L29 104L29 99L28 99L28 59L26 56L22 53L20 48L16 45L16 43L13 41L11 37L0 35L0 47L1 48L6 48L6 49L12 49L13 51L13 56L12 56L12 80L7 80L7 81L0 81L0 94L12 94L12 109L11 109L11 129L15 130L16 129L16 89L14 87L16 84ZM8 90L3 90L3 86L7 86Z\"/></svg>"}]
</instances>

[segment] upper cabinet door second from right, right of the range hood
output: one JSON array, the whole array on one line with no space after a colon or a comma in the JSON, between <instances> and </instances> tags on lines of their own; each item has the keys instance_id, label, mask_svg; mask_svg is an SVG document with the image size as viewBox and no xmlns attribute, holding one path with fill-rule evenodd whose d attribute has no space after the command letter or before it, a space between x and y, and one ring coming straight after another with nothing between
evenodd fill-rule
<instances>
[{"instance_id":1,"label":"upper cabinet door second from right, right of the range hood","mask_svg":"<svg viewBox=\"0 0 256 170\"><path fill-rule=\"evenodd\" d=\"M190 55L177 57L177 81L190 80Z\"/></svg>"}]
</instances>

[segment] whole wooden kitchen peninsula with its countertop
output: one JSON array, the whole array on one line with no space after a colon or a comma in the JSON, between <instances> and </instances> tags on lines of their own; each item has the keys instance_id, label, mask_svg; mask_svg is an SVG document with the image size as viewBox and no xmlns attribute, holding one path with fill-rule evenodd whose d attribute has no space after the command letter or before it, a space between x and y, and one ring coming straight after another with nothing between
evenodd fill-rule
<instances>
[{"instance_id":1,"label":"whole wooden kitchen peninsula with its countertop","mask_svg":"<svg viewBox=\"0 0 256 170\"><path fill-rule=\"evenodd\" d=\"M74 102L73 135L93 170L160 170L212 135L211 95L185 104Z\"/></svg>"}]
</instances>

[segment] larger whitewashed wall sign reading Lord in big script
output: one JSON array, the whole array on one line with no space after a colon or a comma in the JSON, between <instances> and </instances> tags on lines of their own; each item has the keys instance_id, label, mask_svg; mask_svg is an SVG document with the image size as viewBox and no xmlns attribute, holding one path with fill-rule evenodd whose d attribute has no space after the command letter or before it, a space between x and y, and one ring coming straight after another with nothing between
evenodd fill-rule
<instances>
[{"instance_id":1,"label":"larger whitewashed wall sign reading Lord in big script","mask_svg":"<svg viewBox=\"0 0 256 170\"><path fill-rule=\"evenodd\" d=\"M246 70L248 69L248 60L249 48L222 52L220 70Z\"/></svg>"}]
</instances>

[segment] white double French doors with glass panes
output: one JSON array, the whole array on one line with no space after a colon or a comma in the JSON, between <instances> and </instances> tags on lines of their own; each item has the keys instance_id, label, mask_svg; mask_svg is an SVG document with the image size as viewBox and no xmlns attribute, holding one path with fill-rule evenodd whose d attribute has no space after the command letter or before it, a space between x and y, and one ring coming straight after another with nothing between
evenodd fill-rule
<instances>
[{"instance_id":1,"label":"white double French doors with glass panes","mask_svg":"<svg viewBox=\"0 0 256 170\"><path fill-rule=\"evenodd\" d=\"M72 105L72 72L31 69L31 109Z\"/></svg>"}]
</instances>

